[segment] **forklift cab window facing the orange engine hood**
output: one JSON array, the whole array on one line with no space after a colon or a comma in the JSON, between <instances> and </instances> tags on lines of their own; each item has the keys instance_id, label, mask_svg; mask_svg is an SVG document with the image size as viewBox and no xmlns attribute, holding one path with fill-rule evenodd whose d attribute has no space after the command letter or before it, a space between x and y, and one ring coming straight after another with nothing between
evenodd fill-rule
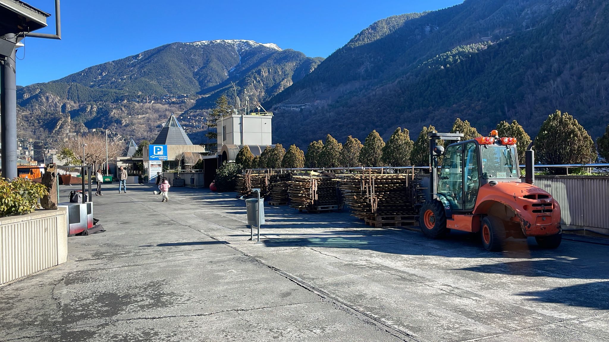
<instances>
[{"instance_id":1,"label":"forklift cab window facing the orange engine hood","mask_svg":"<svg viewBox=\"0 0 609 342\"><path fill-rule=\"evenodd\" d=\"M514 145L481 145L482 177L520 178Z\"/></svg>"}]
</instances>

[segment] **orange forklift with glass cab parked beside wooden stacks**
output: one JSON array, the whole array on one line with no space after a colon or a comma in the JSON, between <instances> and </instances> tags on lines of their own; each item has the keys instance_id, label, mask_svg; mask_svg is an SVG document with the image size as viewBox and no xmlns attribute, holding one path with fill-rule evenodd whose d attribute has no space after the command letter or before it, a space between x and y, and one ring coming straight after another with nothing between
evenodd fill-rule
<instances>
[{"instance_id":1,"label":"orange forklift with glass cab parked beside wooden stacks","mask_svg":"<svg viewBox=\"0 0 609 342\"><path fill-rule=\"evenodd\" d=\"M535 237L544 248L562 240L560 206L534 186L534 152L526 152L525 179L520 178L516 138L490 136L461 141L460 133L429 133L431 200L423 204L421 231L434 239L450 229L479 232L488 251L501 251L507 237ZM446 147L438 139L457 141ZM442 165L438 166L438 157Z\"/></svg>"}]
</instances>

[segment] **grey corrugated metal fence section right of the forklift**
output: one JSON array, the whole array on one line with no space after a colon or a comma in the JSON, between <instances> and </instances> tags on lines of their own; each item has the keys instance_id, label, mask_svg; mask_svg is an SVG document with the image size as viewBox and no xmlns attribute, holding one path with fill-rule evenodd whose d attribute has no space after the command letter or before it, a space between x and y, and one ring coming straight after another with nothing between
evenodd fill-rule
<instances>
[{"instance_id":1,"label":"grey corrugated metal fence section right of the forklift","mask_svg":"<svg viewBox=\"0 0 609 342\"><path fill-rule=\"evenodd\" d=\"M609 229L609 176L535 176L560 204L563 224Z\"/></svg>"}]
</instances>

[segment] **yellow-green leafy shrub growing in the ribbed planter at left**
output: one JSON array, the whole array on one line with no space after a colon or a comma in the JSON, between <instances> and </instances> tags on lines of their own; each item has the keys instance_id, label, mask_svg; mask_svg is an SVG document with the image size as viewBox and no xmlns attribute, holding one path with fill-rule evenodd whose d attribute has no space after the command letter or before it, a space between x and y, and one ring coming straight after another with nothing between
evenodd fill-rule
<instances>
[{"instance_id":1,"label":"yellow-green leafy shrub growing in the ribbed planter at left","mask_svg":"<svg viewBox=\"0 0 609 342\"><path fill-rule=\"evenodd\" d=\"M25 178L0 180L0 217L26 215L41 208L38 201L48 195L46 186Z\"/></svg>"}]
</instances>

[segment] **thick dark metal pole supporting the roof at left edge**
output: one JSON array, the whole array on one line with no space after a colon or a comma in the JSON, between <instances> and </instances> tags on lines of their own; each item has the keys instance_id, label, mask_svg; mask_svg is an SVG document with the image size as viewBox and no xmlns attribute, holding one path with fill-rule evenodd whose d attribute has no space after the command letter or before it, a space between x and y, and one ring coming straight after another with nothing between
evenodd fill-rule
<instances>
[{"instance_id":1,"label":"thick dark metal pole supporting the roof at left edge","mask_svg":"<svg viewBox=\"0 0 609 342\"><path fill-rule=\"evenodd\" d=\"M13 33L4 38L16 43ZM0 126L2 128L2 178L17 177L17 79L15 71L15 49L4 58L0 67Z\"/></svg>"}]
</instances>

